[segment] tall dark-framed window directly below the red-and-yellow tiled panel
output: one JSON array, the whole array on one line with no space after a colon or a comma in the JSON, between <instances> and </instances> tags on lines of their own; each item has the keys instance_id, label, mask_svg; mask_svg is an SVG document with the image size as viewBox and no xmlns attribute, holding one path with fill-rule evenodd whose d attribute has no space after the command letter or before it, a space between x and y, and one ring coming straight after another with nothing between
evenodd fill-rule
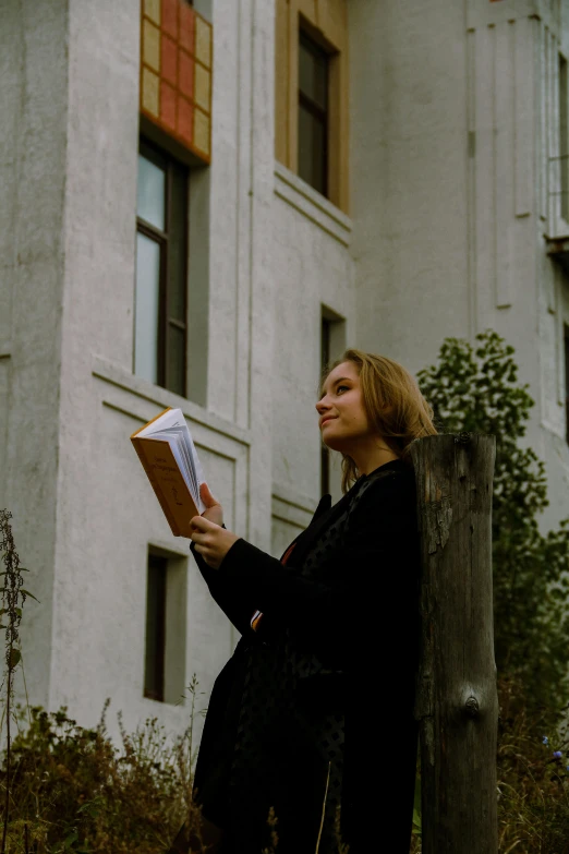
<instances>
[{"instance_id":1,"label":"tall dark-framed window directly below the red-and-yellow tiled panel","mask_svg":"<svg viewBox=\"0 0 569 854\"><path fill-rule=\"evenodd\" d=\"M134 373L185 397L187 168L141 142Z\"/></svg>"}]
</instances>

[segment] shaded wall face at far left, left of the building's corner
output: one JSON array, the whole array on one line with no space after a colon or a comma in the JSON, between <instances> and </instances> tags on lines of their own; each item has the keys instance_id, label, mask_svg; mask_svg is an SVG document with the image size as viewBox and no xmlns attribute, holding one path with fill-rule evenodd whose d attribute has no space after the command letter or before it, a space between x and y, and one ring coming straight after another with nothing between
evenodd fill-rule
<instances>
[{"instance_id":1,"label":"shaded wall face at far left, left of the building's corner","mask_svg":"<svg viewBox=\"0 0 569 854\"><path fill-rule=\"evenodd\" d=\"M26 580L25 673L47 703L53 623L69 80L66 3L2 3L0 506ZM19 683L17 687L22 687Z\"/></svg>"}]
</instances>

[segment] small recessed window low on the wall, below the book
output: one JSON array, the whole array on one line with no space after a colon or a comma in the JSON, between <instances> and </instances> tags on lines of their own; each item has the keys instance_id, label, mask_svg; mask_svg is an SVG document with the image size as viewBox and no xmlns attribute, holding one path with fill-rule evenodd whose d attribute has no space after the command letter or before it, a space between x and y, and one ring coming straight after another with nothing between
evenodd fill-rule
<instances>
[{"instance_id":1,"label":"small recessed window low on the wall, below the book","mask_svg":"<svg viewBox=\"0 0 569 854\"><path fill-rule=\"evenodd\" d=\"M150 546L146 566L144 696L179 702L185 685L187 560Z\"/></svg>"}]
</instances>

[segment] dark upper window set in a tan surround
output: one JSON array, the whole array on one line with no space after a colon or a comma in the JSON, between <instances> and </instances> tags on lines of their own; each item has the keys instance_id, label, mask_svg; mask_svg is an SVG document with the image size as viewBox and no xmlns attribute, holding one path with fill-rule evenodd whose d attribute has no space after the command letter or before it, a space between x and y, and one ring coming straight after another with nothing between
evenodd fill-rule
<instances>
[{"instance_id":1,"label":"dark upper window set in a tan surround","mask_svg":"<svg viewBox=\"0 0 569 854\"><path fill-rule=\"evenodd\" d=\"M306 33L299 41L299 176L328 194L328 55Z\"/></svg>"}]
</instances>

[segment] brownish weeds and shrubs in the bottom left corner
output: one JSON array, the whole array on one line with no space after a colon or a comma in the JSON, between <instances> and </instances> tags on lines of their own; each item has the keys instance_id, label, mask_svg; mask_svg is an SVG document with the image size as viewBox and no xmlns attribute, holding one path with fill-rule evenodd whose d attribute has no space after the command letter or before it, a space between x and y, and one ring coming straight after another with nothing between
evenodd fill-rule
<instances>
[{"instance_id":1,"label":"brownish weeds and shrubs in the bottom left corner","mask_svg":"<svg viewBox=\"0 0 569 854\"><path fill-rule=\"evenodd\" d=\"M194 679L194 696L195 687ZM170 741L149 718L129 735L119 715L119 748L106 731L108 703L96 729L80 726L65 707L31 709L31 725L12 745L10 852L157 854L184 820L197 826L191 730Z\"/></svg>"}]
</instances>

